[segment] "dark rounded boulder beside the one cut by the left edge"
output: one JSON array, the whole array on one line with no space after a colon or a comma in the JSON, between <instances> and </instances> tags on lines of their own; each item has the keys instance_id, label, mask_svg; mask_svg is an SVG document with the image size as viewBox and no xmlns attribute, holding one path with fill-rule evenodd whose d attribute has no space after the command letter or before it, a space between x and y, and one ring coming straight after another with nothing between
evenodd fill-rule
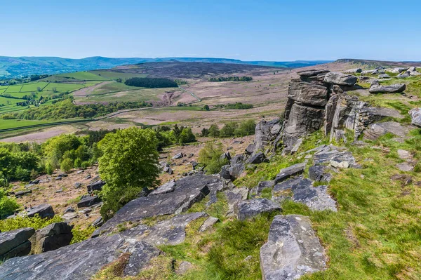
<instances>
[{"instance_id":1,"label":"dark rounded boulder beside the one cut by the left edge","mask_svg":"<svg viewBox=\"0 0 421 280\"><path fill-rule=\"evenodd\" d=\"M73 238L72 228L67 222L55 222L38 229L31 238L32 253L44 253L69 245Z\"/></svg>"}]
</instances>

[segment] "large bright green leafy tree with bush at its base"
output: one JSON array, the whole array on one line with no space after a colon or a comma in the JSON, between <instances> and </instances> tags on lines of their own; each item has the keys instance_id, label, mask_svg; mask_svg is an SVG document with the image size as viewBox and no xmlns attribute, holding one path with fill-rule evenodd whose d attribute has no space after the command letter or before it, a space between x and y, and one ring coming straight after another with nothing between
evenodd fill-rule
<instances>
[{"instance_id":1,"label":"large bright green leafy tree with bush at its base","mask_svg":"<svg viewBox=\"0 0 421 280\"><path fill-rule=\"evenodd\" d=\"M104 201L103 218L111 218L124 204L135 199L142 188L156 186L160 173L157 145L152 129L135 127L108 133L98 143L102 151L100 176L107 182L100 194Z\"/></svg>"}]
</instances>

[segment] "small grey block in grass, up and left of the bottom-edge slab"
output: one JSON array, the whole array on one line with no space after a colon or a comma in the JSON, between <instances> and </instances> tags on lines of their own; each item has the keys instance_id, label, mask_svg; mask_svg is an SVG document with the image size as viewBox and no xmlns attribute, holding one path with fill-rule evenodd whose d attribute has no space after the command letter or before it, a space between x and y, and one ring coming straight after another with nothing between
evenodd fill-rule
<instances>
[{"instance_id":1,"label":"small grey block in grass, up and left of the bottom-edge slab","mask_svg":"<svg viewBox=\"0 0 421 280\"><path fill-rule=\"evenodd\" d=\"M237 218L246 220L262 213L273 213L282 211L281 206L269 199L248 199L238 204Z\"/></svg>"}]
</instances>

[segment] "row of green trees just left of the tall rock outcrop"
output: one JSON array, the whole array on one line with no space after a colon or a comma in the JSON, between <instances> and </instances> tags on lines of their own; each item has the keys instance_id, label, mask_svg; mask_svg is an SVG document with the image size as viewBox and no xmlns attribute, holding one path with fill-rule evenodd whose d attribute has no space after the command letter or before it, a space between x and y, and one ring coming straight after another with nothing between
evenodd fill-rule
<instances>
[{"instance_id":1,"label":"row of green trees just left of the tall rock outcrop","mask_svg":"<svg viewBox=\"0 0 421 280\"><path fill-rule=\"evenodd\" d=\"M209 128L202 128L201 136L211 138L229 138L229 137L243 137L253 135L255 133L255 121L252 119L248 121L229 121L227 124L219 128L216 124L212 124Z\"/></svg>"}]
</instances>

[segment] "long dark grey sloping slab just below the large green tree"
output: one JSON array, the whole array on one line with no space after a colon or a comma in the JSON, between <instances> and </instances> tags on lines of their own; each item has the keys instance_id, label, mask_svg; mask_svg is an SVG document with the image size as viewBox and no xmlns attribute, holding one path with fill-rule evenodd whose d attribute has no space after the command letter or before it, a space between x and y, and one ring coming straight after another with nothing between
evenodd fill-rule
<instances>
[{"instance_id":1,"label":"long dark grey sloping slab just below the large green tree","mask_svg":"<svg viewBox=\"0 0 421 280\"><path fill-rule=\"evenodd\" d=\"M210 185L220 182L220 180L218 175L196 173L177 180L173 192L133 199L117 211L113 218L107 220L104 225L96 229L93 236L111 232L123 222L139 222L144 218L187 211L195 202L200 201L209 194L211 190Z\"/></svg>"}]
</instances>

